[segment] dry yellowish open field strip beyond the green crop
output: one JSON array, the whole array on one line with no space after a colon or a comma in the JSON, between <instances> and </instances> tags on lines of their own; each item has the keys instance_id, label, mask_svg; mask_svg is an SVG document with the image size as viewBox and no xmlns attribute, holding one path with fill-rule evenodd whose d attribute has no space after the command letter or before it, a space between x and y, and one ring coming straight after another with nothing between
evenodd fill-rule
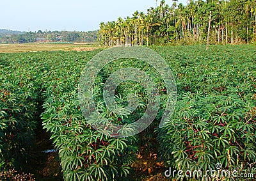
<instances>
[{"instance_id":1,"label":"dry yellowish open field strip beyond the green crop","mask_svg":"<svg viewBox=\"0 0 256 181\"><path fill-rule=\"evenodd\" d=\"M0 44L0 52L72 51L77 47L95 47L95 43L13 43Z\"/></svg>"}]
</instances>

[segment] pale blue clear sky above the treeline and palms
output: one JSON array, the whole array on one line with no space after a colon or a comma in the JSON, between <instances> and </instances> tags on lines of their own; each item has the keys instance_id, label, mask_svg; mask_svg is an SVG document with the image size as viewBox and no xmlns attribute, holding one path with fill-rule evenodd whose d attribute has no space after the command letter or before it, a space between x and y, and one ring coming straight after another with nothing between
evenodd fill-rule
<instances>
[{"instance_id":1,"label":"pale blue clear sky above the treeline and palms","mask_svg":"<svg viewBox=\"0 0 256 181\"><path fill-rule=\"evenodd\" d=\"M172 2L166 0L170 6ZM90 31L99 29L100 22L131 17L136 10L147 12L150 7L156 7L156 0L2 0L0 29Z\"/></svg>"}]
</instances>

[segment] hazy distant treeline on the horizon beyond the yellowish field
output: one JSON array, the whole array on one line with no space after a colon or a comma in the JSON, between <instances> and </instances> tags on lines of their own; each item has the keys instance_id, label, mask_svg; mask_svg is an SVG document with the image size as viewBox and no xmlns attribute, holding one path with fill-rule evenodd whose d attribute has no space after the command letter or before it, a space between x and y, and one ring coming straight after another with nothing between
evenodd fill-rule
<instances>
[{"instance_id":1,"label":"hazy distant treeline on the horizon beyond the yellowish field","mask_svg":"<svg viewBox=\"0 0 256 181\"><path fill-rule=\"evenodd\" d=\"M0 29L0 43L31 42L96 42L98 31L41 31L22 32Z\"/></svg>"}]
</instances>

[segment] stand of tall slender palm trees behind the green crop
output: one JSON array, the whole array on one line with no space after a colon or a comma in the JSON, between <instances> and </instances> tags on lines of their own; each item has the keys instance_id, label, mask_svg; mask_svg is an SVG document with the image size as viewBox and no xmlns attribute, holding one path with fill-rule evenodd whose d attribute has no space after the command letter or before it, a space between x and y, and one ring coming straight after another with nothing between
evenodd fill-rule
<instances>
[{"instance_id":1,"label":"stand of tall slender palm trees behind the green crop","mask_svg":"<svg viewBox=\"0 0 256 181\"><path fill-rule=\"evenodd\" d=\"M178 1L161 1L147 13L102 22L99 40L102 45L190 45L207 40L211 12L211 44L255 43L255 0L197 0L184 6Z\"/></svg>"}]
</instances>

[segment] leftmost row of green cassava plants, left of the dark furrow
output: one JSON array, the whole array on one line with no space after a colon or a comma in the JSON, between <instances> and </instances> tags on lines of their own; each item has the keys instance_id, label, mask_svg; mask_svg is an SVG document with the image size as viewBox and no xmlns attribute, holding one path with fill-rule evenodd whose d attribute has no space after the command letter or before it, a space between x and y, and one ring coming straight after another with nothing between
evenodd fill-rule
<instances>
[{"instance_id":1,"label":"leftmost row of green cassava plants, left of the dark furrow","mask_svg":"<svg viewBox=\"0 0 256 181\"><path fill-rule=\"evenodd\" d=\"M1 55L0 169L20 167L33 143L38 113L40 79L36 63L20 54ZM27 71L24 71L27 70Z\"/></svg>"}]
</instances>

